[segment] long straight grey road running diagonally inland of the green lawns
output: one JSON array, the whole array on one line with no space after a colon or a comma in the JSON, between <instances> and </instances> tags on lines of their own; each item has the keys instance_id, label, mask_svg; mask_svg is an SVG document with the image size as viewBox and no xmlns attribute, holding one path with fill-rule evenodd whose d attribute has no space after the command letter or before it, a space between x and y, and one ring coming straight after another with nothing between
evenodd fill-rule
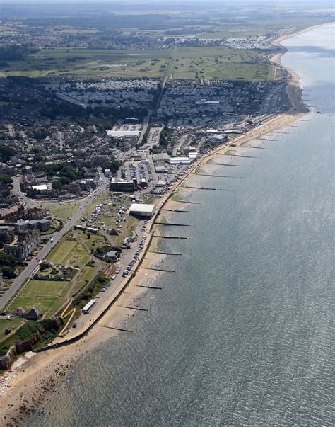
<instances>
[{"instance_id":1,"label":"long straight grey road running diagonally inland of the green lawns","mask_svg":"<svg viewBox=\"0 0 335 427\"><path fill-rule=\"evenodd\" d=\"M13 280L11 287L4 293L3 297L0 300L0 309L4 309L6 307L6 304L13 298L13 296L18 292L20 287L23 285L25 280L30 278L30 276L33 274L33 271L35 271L35 268L37 268L40 261L42 261L47 254L49 254L49 251L51 251L54 246L57 245L59 240L69 232L69 230L76 225L78 220L83 216L83 213L87 209L88 205L93 202L93 200L100 194L102 191L106 190L107 188L108 179L105 178L105 176L100 171L100 181L98 187L88 195L87 198L83 199L81 201L81 204L78 207L78 210L74 213L74 216L71 217L71 220L66 223L66 225L59 230L59 232L54 232L52 234L52 241L49 240L47 244L45 244L40 252L28 263L28 266L25 267L25 269L18 275L16 279Z\"/></svg>"}]
</instances>

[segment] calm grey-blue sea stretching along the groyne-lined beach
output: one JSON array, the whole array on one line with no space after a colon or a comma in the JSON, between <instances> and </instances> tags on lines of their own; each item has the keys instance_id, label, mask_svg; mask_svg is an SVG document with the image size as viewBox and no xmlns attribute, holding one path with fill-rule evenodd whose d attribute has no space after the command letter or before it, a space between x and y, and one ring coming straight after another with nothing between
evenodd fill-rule
<instances>
[{"instance_id":1,"label":"calm grey-blue sea stretching along the groyne-lined beach","mask_svg":"<svg viewBox=\"0 0 335 427\"><path fill-rule=\"evenodd\" d=\"M334 25L285 42L312 111L222 166L165 242L151 307L78 362L34 426L335 424ZM258 143L261 144L261 143ZM173 258L173 259L171 259Z\"/></svg>"}]
</instances>

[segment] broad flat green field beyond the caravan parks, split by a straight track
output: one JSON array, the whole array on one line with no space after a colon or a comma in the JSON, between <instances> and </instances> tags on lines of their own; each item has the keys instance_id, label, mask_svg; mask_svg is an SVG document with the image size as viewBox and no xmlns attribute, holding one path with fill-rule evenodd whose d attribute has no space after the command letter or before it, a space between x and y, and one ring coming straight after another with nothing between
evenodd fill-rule
<instances>
[{"instance_id":1,"label":"broad flat green field beyond the caravan parks, split by a straight track","mask_svg":"<svg viewBox=\"0 0 335 427\"><path fill-rule=\"evenodd\" d=\"M45 49L25 61L8 62L0 76L158 77L170 70L172 79L261 81L270 67L258 60L257 50L230 47L180 47L160 50ZM170 78L170 73L169 73ZM69 207L71 209L71 207ZM51 207L57 214L57 207ZM59 211L62 207L59 207ZM64 215L59 217L63 217Z\"/></svg>"}]
</instances>

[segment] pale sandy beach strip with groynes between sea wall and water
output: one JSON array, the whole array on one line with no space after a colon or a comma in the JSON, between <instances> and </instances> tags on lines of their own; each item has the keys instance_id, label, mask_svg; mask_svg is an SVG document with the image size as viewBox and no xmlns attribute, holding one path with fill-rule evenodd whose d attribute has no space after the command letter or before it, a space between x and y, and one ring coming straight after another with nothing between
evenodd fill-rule
<instances>
[{"instance_id":1,"label":"pale sandy beach strip with groynes between sea wall and water","mask_svg":"<svg viewBox=\"0 0 335 427\"><path fill-rule=\"evenodd\" d=\"M295 35L305 33L318 26L320 25L306 28L298 33L283 35L274 40L273 43L275 45L280 44L283 40L293 38ZM286 50L283 49L283 52L270 55L271 60L280 63L281 57L285 52ZM169 194L165 195L164 198L160 199L155 220L159 217L162 208L168 210L182 210L187 207L187 200L185 200L185 203L177 203L173 200L172 195L176 191L182 191L183 193L186 191L184 194L187 195L196 191L196 189L191 188L182 189L182 185L192 176L196 177L197 180L204 181L206 177L196 175L196 173L194 173L196 169L199 167L206 167L208 160L215 159L217 155L226 154L228 151L232 150L231 143L234 144L234 150L238 150L239 152L240 150L249 151L250 149L243 147L242 144L257 140L257 138L261 136L274 132L274 130L281 127L285 127L307 113L308 110L301 101L302 91L299 86L300 78L293 70L289 69L288 72L292 75L292 79L288 85L292 89L287 88L288 92L293 91L291 95L292 98L288 95L290 101L293 101L292 108L287 113L281 113L264 120L264 123L250 130L247 134L236 137L234 140L230 141L228 147L217 147L196 161L192 169L190 169L187 175L177 183L175 188ZM297 88L298 91L294 91L294 89ZM303 107L302 109L300 109L301 106ZM229 159L231 158L227 156L227 161L225 161L225 163L229 163ZM168 214L168 211L163 212L165 217ZM153 242L153 244L156 243ZM148 290L147 286L159 286L159 284L155 282L158 280L161 273L159 271L146 270L146 267L160 263L161 261L161 255L147 251L143 256L142 268L139 268L136 276L129 281L129 284L125 287L122 295L117 300L117 304L114 304L101 319L94 321L94 327L90 326L89 331L87 331L87 334L83 338L69 346L54 349L50 348L50 350L43 353L35 353L33 357L25 358L24 363L13 365L10 371L6 372L3 377L0 377L0 425L6 425L7 423L11 424L13 422L16 423L16 421L23 419L24 414L30 413L31 411L36 411L40 414L44 413L45 409L43 409L43 402L51 398L52 394L56 392L57 387L64 380L64 377L71 373L71 368L74 363L83 357L83 355L86 355L97 346L102 345L102 343L118 334L119 332L117 330L110 328L119 327L122 329L124 320L130 315L135 314L135 310L124 309L124 307L131 307L131 304L136 304L146 292L154 292L153 290ZM124 285L124 283L122 285ZM120 285L120 287L122 285Z\"/></svg>"}]
</instances>

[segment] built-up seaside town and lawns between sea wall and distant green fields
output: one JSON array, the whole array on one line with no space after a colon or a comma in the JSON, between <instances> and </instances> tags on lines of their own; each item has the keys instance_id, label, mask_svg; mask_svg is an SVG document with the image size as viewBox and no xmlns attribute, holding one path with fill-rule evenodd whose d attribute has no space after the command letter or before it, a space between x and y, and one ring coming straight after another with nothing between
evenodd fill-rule
<instances>
[{"instance_id":1,"label":"built-up seaside town and lawns between sea wall and distant green fields","mask_svg":"<svg viewBox=\"0 0 335 427\"><path fill-rule=\"evenodd\" d=\"M41 322L37 344L29 331L25 340L40 348L110 301L143 256L160 199L196 161L292 108L272 38L258 40L264 81L1 79L1 369L27 321ZM251 42L225 44L263 48Z\"/></svg>"}]
</instances>

